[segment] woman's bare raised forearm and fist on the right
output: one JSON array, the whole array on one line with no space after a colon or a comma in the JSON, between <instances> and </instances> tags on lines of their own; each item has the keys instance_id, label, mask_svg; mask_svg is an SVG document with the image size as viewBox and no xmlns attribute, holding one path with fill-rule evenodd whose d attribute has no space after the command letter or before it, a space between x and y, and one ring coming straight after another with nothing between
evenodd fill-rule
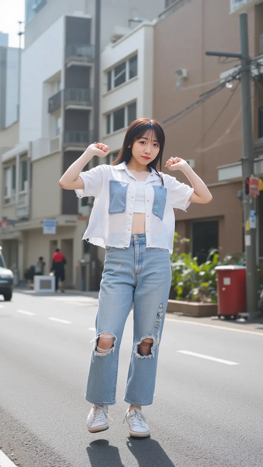
<instances>
[{"instance_id":1,"label":"woman's bare raised forearm and fist on the right","mask_svg":"<svg viewBox=\"0 0 263 467\"><path fill-rule=\"evenodd\" d=\"M212 201L212 194L208 190L207 186L203 180L198 177L194 170L191 169L190 165L186 161L179 157L171 157L167 161L166 167L168 167L169 170L181 170L188 178L194 189L193 194L189 198L191 203L206 204Z\"/></svg>"}]
</instances>

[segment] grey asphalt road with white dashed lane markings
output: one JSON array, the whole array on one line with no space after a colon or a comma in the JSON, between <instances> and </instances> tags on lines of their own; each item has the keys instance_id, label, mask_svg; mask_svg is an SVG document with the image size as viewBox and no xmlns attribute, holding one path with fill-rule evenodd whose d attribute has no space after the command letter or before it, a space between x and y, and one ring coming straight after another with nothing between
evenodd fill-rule
<instances>
[{"instance_id":1,"label":"grey asphalt road with white dashed lane markings","mask_svg":"<svg viewBox=\"0 0 263 467\"><path fill-rule=\"evenodd\" d=\"M167 316L154 403L144 409L151 437L132 439L122 424L132 312L110 429L86 427L95 313L88 297L0 301L0 449L16 466L262 467L263 333Z\"/></svg>"}]
</instances>

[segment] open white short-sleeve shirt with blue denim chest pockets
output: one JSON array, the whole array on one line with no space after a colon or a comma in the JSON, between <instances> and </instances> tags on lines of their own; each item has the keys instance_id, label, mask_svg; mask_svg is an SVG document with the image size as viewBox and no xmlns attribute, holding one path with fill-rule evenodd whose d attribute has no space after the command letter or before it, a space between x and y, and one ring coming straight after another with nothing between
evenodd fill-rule
<instances>
[{"instance_id":1,"label":"open white short-sleeve shirt with blue denim chest pockets","mask_svg":"<svg viewBox=\"0 0 263 467\"><path fill-rule=\"evenodd\" d=\"M173 253L174 208L186 211L194 189L180 183L175 177L151 169L145 184L146 248L165 248ZM98 165L81 172L84 190L75 190L78 198L94 196L94 206L88 228L83 236L90 243L105 248L128 248L136 195L136 178L126 163Z\"/></svg>"}]
</instances>

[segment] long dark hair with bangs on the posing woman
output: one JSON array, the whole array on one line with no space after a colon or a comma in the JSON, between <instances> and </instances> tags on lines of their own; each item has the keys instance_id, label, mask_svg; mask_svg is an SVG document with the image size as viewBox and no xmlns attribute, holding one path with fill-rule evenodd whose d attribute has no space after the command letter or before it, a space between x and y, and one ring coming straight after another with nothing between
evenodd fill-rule
<instances>
[{"instance_id":1,"label":"long dark hair with bangs on the posing woman","mask_svg":"<svg viewBox=\"0 0 263 467\"><path fill-rule=\"evenodd\" d=\"M117 158L115 159L115 161L113 161L111 165L118 165L118 164L121 164L122 162L126 162L126 163L130 162L131 156L132 156L132 145L134 141L139 140L145 134L149 134L151 132L155 134L156 139L159 142L159 153L155 157L155 159L153 159L153 161L147 164L147 167L153 167L153 169L157 172L157 174L161 178L161 183L163 186L163 179L157 167L159 167L161 170L161 158L162 158L162 153L164 149L165 136L164 136L164 132L163 132L163 129L160 123L158 123L156 120L150 120L148 118L140 118L138 120L134 120L133 122L131 122L131 125L127 129L125 137L124 137L123 147L120 150Z\"/></svg>"}]
</instances>

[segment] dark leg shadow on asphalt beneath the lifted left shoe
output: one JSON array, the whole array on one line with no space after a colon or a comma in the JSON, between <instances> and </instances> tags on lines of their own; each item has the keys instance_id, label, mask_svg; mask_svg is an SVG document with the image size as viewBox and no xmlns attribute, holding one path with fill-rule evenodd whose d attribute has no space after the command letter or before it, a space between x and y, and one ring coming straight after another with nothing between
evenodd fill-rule
<instances>
[{"instance_id":1,"label":"dark leg shadow on asphalt beneath the lifted left shoe","mask_svg":"<svg viewBox=\"0 0 263 467\"><path fill-rule=\"evenodd\" d=\"M108 439L97 439L87 447L91 467L124 467L119 450L109 444Z\"/></svg>"}]
</instances>

